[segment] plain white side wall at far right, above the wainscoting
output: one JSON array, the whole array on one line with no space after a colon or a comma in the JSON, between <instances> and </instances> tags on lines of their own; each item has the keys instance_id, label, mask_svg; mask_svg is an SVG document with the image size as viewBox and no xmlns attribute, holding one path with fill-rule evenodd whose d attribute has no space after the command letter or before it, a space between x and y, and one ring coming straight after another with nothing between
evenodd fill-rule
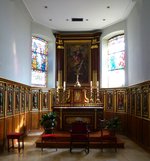
<instances>
[{"instance_id":1,"label":"plain white side wall at far right, above the wainscoting","mask_svg":"<svg viewBox=\"0 0 150 161\"><path fill-rule=\"evenodd\" d=\"M150 0L137 0L127 19L129 85L150 80Z\"/></svg>"}]
</instances>

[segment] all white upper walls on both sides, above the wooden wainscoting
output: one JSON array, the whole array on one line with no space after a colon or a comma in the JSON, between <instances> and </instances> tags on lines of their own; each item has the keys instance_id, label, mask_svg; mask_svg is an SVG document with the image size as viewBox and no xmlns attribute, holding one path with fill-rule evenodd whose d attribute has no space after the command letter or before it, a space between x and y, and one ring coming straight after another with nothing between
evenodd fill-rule
<instances>
[{"instance_id":1,"label":"all white upper walls on both sides, above the wooden wainscoting","mask_svg":"<svg viewBox=\"0 0 150 161\"><path fill-rule=\"evenodd\" d=\"M101 35L102 42L109 33L125 31L128 85L150 80L150 0L136 1L126 21L103 29ZM22 0L0 0L0 77L31 85L32 34L49 40L48 87L54 87L55 38L52 31L32 23Z\"/></svg>"}]
</instances>

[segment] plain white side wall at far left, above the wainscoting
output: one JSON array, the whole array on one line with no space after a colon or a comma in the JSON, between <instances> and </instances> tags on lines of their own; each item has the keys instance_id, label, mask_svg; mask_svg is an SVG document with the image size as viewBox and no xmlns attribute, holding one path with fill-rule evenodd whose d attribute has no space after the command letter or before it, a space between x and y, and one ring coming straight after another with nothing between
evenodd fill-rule
<instances>
[{"instance_id":1,"label":"plain white side wall at far left, above the wainscoting","mask_svg":"<svg viewBox=\"0 0 150 161\"><path fill-rule=\"evenodd\" d=\"M31 17L21 0L0 1L0 77L30 85Z\"/></svg>"}]
</instances>

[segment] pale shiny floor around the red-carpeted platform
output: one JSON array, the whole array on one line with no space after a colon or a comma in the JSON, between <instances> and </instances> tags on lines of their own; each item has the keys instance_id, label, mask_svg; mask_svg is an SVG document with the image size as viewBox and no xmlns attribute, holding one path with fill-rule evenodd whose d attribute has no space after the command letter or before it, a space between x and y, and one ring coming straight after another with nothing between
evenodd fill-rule
<instances>
[{"instance_id":1,"label":"pale shiny floor around the red-carpeted platform","mask_svg":"<svg viewBox=\"0 0 150 161\"><path fill-rule=\"evenodd\" d=\"M0 153L0 161L150 161L150 154L140 148L134 142L124 136L120 136L125 142L124 149L90 149L86 154L82 149L44 149L35 147L35 141L40 133L32 133L25 139L25 149L18 154L17 149L11 152Z\"/></svg>"}]
</instances>

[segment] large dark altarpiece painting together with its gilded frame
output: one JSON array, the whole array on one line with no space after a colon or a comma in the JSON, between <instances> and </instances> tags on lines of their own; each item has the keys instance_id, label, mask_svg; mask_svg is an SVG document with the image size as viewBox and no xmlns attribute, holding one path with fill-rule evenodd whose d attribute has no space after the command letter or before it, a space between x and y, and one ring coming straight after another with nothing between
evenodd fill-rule
<instances>
[{"instance_id":1,"label":"large dark altarpiece painting together with its gilded frame","mask_svg":"<svg viewBox=\"0 0 150 161\"><path fill-rule=\"evenodd\" d=\"M64 42L65 47L65 80L68 86L73 86L78 81L81 86L86 86L90 81L90 40L69 40Z\"/></svg>"}]
</instances>

